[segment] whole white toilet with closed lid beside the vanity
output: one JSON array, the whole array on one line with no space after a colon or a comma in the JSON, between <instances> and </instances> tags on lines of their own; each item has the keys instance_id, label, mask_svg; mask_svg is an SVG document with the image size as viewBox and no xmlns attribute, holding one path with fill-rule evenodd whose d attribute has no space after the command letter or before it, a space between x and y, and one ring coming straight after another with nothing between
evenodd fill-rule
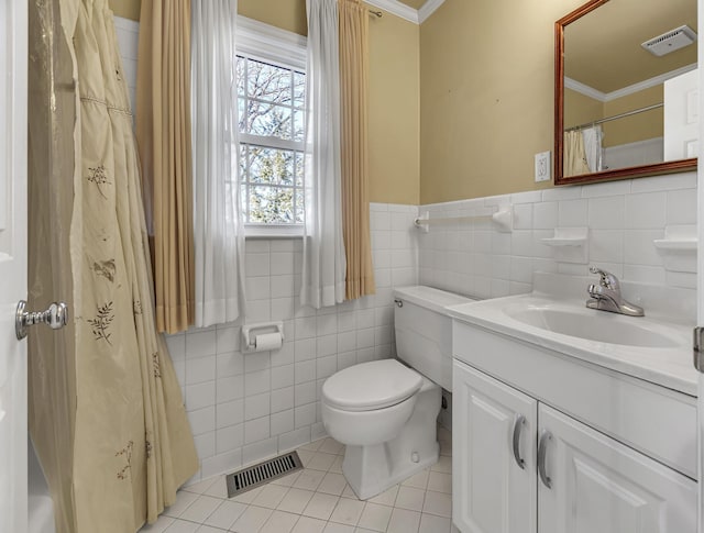
<instances>
[{"instance_id":1,"label":"whole white toilet with closed lid beside the vanity","mask_svg":"<svg viewBox=\"0 0 704 533\"><path fill-rule=\"evenodd\" d=\"M344 444L342 471L361 500L438 460L442 389L452 390L452 319L471 301L430 287L394 290L398 359L344 368L322 386L322 423Z\"/></svg>"}]
</instances>

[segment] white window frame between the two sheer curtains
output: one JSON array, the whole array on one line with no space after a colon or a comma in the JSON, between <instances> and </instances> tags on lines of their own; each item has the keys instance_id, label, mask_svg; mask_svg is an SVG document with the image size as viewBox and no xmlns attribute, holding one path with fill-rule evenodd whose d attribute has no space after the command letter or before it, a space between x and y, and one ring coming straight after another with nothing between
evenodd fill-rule
<instances>
[{"instance_id":1,"label":"white window frame between the two sheer curtains","mask_svg":"<svg viewBox=\"0 0 704 533\"><path fill-rule=\"evenodd\" d=\"M235 53L254 60L261 60L284 68L306 73L307 38L279 27L265 24L245 16L238 15L238 31ZM233 60L237 60L233 58ZM233 98L239 98L233 95ZM262 138L266 138L267 146L280 147L282 149L295 149L294 145L299 142L280 140L278 137L261 137L240 133L240 143L261 145ZM240 157L240 146L238 146L238 159ZM239 160L238 160L239 166ZM241 176L238 171L238 187L241 187ZM240 208L240 207L238 207ZM302 236L304 224L265 224L245 223L245 237L289 237Z\"/></svg>"}]
</instances>

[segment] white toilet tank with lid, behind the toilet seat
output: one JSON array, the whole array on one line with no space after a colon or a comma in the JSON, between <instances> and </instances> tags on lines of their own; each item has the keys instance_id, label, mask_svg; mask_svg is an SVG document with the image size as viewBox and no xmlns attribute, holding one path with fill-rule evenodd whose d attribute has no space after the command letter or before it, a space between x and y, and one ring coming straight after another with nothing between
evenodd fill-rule
<instances>
[{"instance_id":1,"label":"white toilet tank with lid, behind the toilet seat","mask_svg":"<svg viewBox=\"0 0 704 533\"><path fill-rule=\"evenodd\" d=\"M472 301L415 286L394 290L396 355L446 390L452 390L452 319L444 308Z\"/></svg>"}]
</instances>

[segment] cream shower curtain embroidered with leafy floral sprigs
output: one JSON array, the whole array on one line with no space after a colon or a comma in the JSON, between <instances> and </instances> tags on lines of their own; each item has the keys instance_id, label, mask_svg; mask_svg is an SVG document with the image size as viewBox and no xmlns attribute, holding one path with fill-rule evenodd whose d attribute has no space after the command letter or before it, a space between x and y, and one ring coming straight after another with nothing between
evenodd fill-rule
<instances>
[{"instance_id":1,"label":"cream shower curtain embroidered with leafy floral sprigs","mask_svg":"<svg viewBox=\"0 0 704 533\"><path fill-rule=\"evenodd\" d=\"M36 1L40 12L46 3ZM75 164L73 180L64 176L62 184L73 189L70 226L64 230L74 322L64 333L69 349L55 369L65 384L53 387L72 402L73 424L53 423L55 407L38 395L31 399L30 424L58 506L59 533L133 533L175 501L198 460L180 388L155 330L132 114L112 14L107 0L58 5L75 84L64 87L74 96L74 114L66 116L74 146L64 157ZM31 95L31 112L32 98L42 96ZM40 369L51 367L43 360L50 352L35 356L30 345ZM34 390L52 378L33 373ZM52 444L58 453L42 453ZM72 462L70 471L62 457Z\"/></svg>"}]
</instances>

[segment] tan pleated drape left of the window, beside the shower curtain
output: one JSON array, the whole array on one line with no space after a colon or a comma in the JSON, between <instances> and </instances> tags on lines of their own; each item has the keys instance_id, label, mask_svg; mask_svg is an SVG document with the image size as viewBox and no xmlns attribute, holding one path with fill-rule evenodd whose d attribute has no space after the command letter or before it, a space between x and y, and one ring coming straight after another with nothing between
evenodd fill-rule
<instances>
[{"instance_id":1,"label":"tan pleated drape left of the window, beside the shower curtain","mask_svg":"<svg viewBox=\"0 0 704 533\"><path fill-rule=\"evenodd\" d=\"M156 326L194 323L190 0L142 0L136 134L153 237Z\"/></svg>"}]
</instances>

